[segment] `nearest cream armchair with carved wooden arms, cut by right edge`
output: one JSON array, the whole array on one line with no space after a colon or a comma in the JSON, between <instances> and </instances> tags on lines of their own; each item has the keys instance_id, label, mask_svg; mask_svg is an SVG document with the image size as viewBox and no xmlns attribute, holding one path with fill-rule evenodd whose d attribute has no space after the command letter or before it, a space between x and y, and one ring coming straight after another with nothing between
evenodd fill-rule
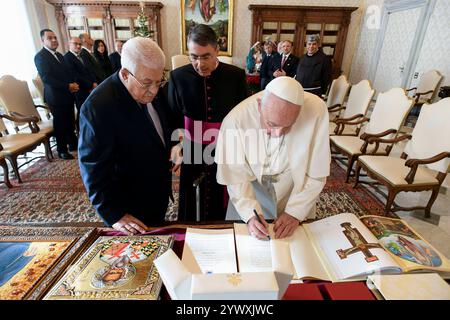
<instances>
[{"instance_id":1,"label":"nearest cream armchair with carved wooden arms, cut by right edge","mask_svg":"<svg viewBox=\"0 0 450 320\"><path fill-rule=\"evenodd\" d=\"M400 158L389 156L360 156L356 165L356 181L363 168L369 177L376 180L372 186L381 184L388 188L385 212L399 210L425 210L425 217L430 217L431 207L436 200L439 188L450 170L450 98L445 98L434 104L423 105L412 135L395 139L370 138L369 143L377 147L380 143L394 143L403 139L408 141ZM437 175L423 168L437 171ZM394 200L402 191L431 190L431 197L425 207L401 207Z\"/></svg>"}]
</instances>

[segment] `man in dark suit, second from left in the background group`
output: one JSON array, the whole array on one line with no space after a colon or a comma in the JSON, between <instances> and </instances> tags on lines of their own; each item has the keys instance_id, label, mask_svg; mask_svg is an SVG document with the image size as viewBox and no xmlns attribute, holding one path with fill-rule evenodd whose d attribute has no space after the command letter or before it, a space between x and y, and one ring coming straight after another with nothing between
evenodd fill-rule
<instances>
[{"instance_id":1,"label":"man in dark suit, second from left in the background group","mask_svg":"<svg viewBox=\"0 0 450 320\"><path fill-rule=\"evenodd\" d=\"M64 60L72 72L72 76L79 84L80 90L75 93L75 104L77 106L77 119L75 121L77 131L80 131L79 119L81 105L87 99L89 93L97 86L95 75L85 66L81 58L81 41L78 37L69 39L69 51L64 55Z\"/></svg>"}]
</instances>

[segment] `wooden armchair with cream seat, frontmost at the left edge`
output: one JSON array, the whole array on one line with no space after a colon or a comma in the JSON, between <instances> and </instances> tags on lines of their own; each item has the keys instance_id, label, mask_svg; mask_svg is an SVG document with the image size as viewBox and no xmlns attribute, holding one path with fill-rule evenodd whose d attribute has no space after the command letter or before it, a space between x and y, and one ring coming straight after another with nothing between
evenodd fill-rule
<instances>
[{"instance_id":1,"label":"wooden armchair with cream seat, frontmost at the left edge","mask_svg":"<svg viewBox=\"0 0 450 320\"><path fill-rule=\"evenodd\" d=\"M8 134L8 130L3 122L3 118L10 121L27 122L31 128L32 133L16 133ZM45 134L39 133L39 127L37 126L38 118L36 116L20 117L17 115L10 116L0 114L0 159L8 159L13 168L14 174L17 177L19 183L22 183L22 179L19 174L19 167L17 164L17 157L19 155L26 154L33 151L41 143L45 146L45 155L48 161L50 159L50 145ZM6 163L0 160L0 165L4 170L5 184L11 188L11 183L8 179L8 169Z\"/></svg>"}]
</instances>

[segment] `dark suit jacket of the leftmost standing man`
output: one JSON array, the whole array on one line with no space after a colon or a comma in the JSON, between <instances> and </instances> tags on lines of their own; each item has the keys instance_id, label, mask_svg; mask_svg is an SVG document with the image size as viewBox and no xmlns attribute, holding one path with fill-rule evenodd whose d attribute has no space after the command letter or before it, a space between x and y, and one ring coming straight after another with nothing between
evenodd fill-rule
<instances>
[{"instance_id":1,"label":"dark suit jacket of the leftmost standing man","mask_svg":"<svg viewBox=\"0 0 450 320\"><path fill-rule=\"evenodd\" d=\"M73 104L73 94L69 91L69 84L74 82L72 73L67 66L64 56L57 52L61 62L45 48L34 56L34 64L44 83L44 99L50 108Z\"/></svg>"}]
</instances>

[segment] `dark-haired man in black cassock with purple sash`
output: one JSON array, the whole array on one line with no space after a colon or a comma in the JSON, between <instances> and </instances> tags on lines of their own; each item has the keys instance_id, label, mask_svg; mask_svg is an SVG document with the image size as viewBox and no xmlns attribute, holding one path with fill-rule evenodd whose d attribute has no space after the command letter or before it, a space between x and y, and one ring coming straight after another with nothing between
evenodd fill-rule
<instances>
[{"instance_id":1,"label":"dark-haired man in black cassock with purple sash","mask_svg":"<svg viewBox=\"0 0 450 320\"><path fill-rule=\"evenodd\" d=\"M226 189L216 181L214 148L223 118L247 98L245 71L219 62L217 35L199 24L188 35L191 64L172 71L169 105L184 128L178 220L196 220L195 180L200 183L201 220L225 220Z\"/></svg>"}]
</instances>

